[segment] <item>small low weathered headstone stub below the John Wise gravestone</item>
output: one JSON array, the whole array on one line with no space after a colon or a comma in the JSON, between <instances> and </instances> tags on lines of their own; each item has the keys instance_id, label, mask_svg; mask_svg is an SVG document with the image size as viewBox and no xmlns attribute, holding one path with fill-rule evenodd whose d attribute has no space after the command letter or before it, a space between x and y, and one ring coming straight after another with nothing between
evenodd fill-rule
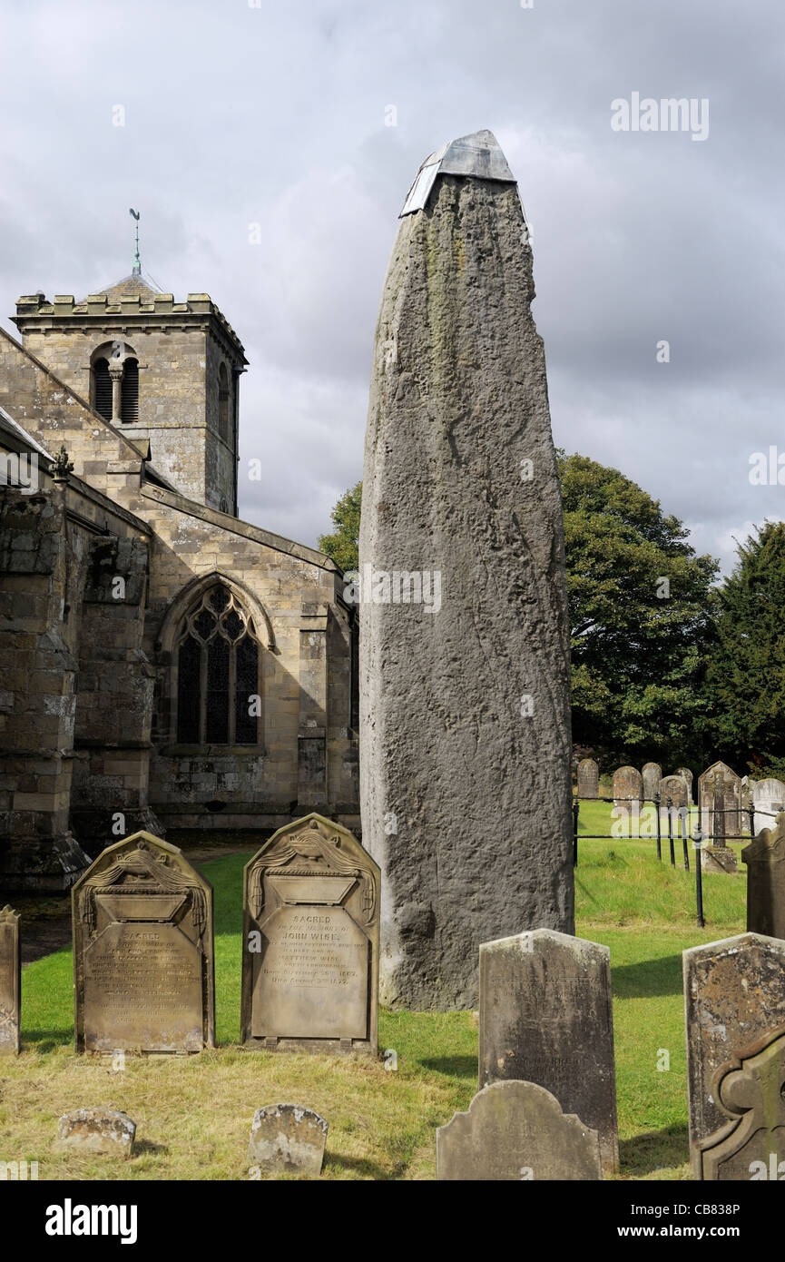
<instances>
[{"instance_id":1,"label":"small low weathered headstone stub below the John Wise gravestone","mask_svg":"<svg viewBox=\"0 0 785 1262\"><path fill-rule=\"evenodd\" d=\"M300 1174L316 1179L322 1171L328 1126L302 1104L266 1104L254 1113L249 1166L254 1174Z\"/></svg>"}]
</instances>

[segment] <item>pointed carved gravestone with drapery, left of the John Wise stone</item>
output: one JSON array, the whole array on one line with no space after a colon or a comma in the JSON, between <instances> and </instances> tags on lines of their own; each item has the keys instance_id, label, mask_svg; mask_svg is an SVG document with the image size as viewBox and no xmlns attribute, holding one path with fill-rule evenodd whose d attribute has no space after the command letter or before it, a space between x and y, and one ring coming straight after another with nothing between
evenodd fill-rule
<instances>
[{"instance_id":1,"label":"pointed carved gravestone with drapery, left of the John Wise stone","mask_svg":"<svg viewBox=\"0 0 785 1262\"><path fill-rule=\"evenodd\" d=\"M134 833L72 890L77 1051L213 1047L212 886L182 851Z\"/></svg>"}]
</instances>

